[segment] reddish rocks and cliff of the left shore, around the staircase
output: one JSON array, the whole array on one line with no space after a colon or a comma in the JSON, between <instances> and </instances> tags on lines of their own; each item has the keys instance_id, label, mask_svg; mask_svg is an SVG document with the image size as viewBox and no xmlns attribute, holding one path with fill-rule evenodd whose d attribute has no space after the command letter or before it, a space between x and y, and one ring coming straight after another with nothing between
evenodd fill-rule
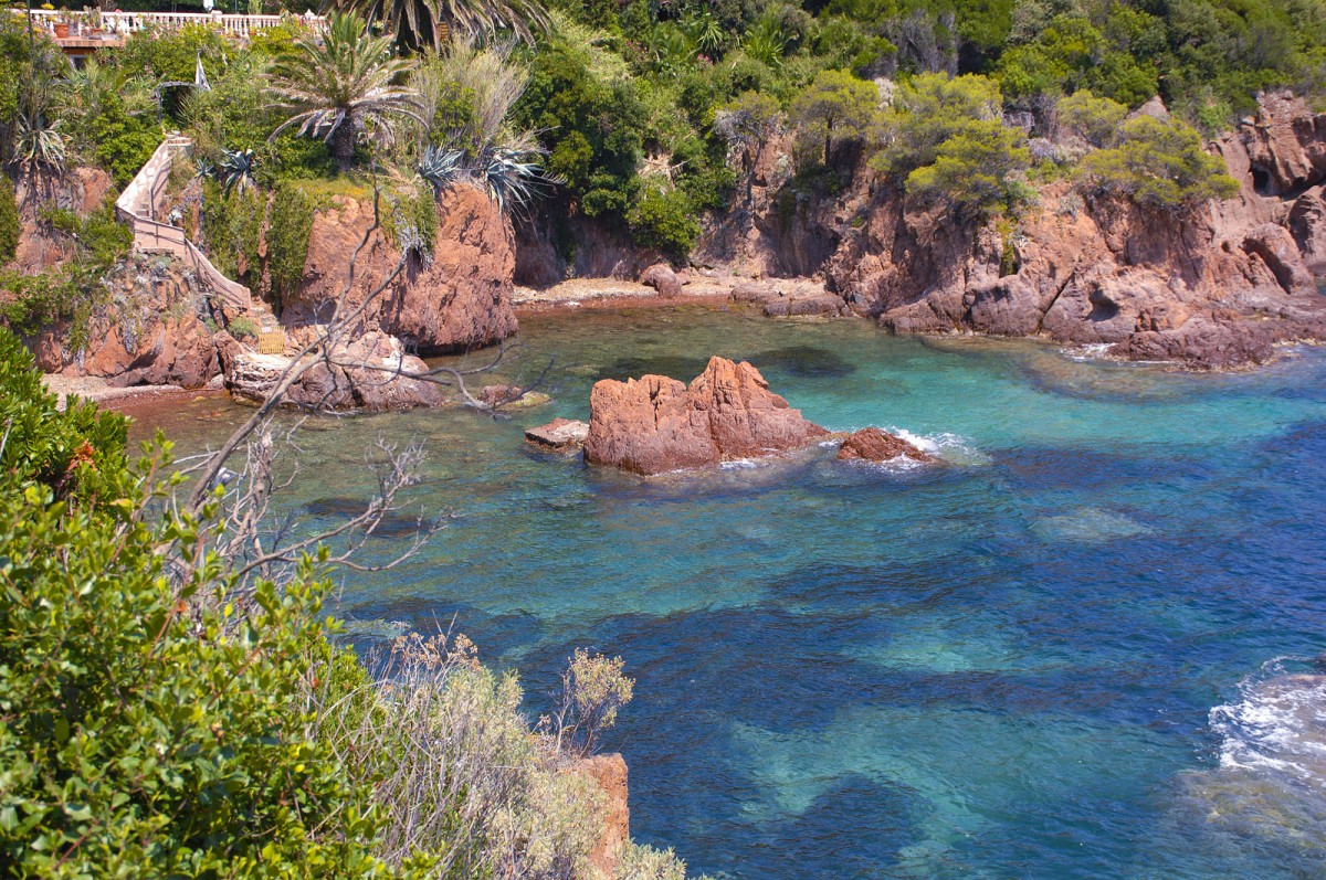
<instances>
[{"instance_id":1,"label":"reddish rocks and cliff of the left shore, around the staircase","mask_svg":"<svg viewBox=\"0 0 1326 880\"><path fill-rule=\"evenodd\" d=\"M86 213L105 197L101 178L72 175L57 203ZM345 363L330 371L313 371L294 390L297 403L369 410L432 406L444 399L436 386L389 379L381 370L370 375L349 367L347 359L363 349L374 362L406 359L408 370L423 370L423 362L404 349L468 350L516 331L511 309L514 252L508 220L472 187L443 193L438 217L438 236L428 257L411 256L398 281L365 310L358 327L363 345L338 351ZM314 333L313 325L332 315L332 305L349 278L350 254L371 224L371 204L345 196L314 215L304 278L286 297L281 314L290 346L301 345ZM32 223L21 237L15 268L37 272L57 265L68 258L66 249ZM346 307L363 303L399 258L389 237L374 232L357 265ZM29 341L44 370L102 376L118 386L196 388L225 368L229 386L251 398L271 379L271 364L264 362L268 355L251 351L253 358L241 357L244 345L216 334L216 322L207 318L219 315L208 307L207 292L195 273L168 256L137 254L119 264L103 288L102 301L94 305L90 318L80 319L78 327L54 326ZM271 315L255 318L259 323L268 319Z\"/></svg>"}]
</instances>

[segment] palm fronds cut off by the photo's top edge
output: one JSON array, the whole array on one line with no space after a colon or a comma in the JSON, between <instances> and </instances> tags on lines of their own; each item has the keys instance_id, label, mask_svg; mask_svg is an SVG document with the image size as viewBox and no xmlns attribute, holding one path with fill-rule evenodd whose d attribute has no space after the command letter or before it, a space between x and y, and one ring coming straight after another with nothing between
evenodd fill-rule
<instances>
[{"instance_id":1,"label":"palm fronds cut off by the photo's top edge","mask_svg":"<svg viewBox=\"0 0 1326 880\"><path fill-rule=\"evenodd\" d=\"M452 32L492 36L511 30L528 44L550 28L540 0L330 0L333 8L382 21L403 49L440 48Z\"/></svg>"}]
</instances>

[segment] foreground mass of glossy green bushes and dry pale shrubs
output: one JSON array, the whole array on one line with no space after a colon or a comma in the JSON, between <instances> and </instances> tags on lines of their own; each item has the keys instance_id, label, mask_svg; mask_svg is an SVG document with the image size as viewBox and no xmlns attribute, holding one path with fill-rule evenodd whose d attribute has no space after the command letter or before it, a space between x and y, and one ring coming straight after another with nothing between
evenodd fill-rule
<instances>
[{"instance_id":1,"label":"foreground mass of glossy green bushes and dry pale shrubs","mask_svg":"<svg viewBox=\"0 0 1326 880\"><path fill-rule=\"evenodd\" d=\"M598 795L565 767L631 697L577 652L532 732L464 639L334 647L325 553L249 573L175 497L170 445L60 411L0 329L0 872L13 877L589 877ZM627 844L623 880L682 877Z\"/></svg>"}]
</instances>

